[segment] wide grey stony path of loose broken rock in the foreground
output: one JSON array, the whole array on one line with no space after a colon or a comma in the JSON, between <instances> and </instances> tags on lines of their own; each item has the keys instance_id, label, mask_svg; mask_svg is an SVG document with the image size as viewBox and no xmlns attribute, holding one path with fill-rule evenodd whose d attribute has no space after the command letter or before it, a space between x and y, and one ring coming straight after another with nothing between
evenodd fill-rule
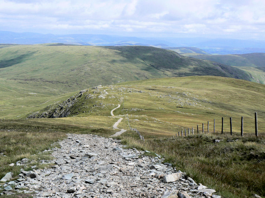
<instances>
[{"instance_id":1,"label":"wide grey stony path of loose broken rock in the foreground","mask_svg":"<svg viewBox=\"0 0 265 198\"><path fill-rule=\"evenodd\" d=\"M119 141L88 134L67 134L52 149L55 163L50 169L21 171L21 178L7 182L34 197L213 197L212 189L197 185L185 173L161 157L145 156L144 151L122 148ZM18 163L22 163L22 160ZM48 163L48 161L43 161ZM9 190L8 190L9 189Z\"/></svg>"}]
</instances>

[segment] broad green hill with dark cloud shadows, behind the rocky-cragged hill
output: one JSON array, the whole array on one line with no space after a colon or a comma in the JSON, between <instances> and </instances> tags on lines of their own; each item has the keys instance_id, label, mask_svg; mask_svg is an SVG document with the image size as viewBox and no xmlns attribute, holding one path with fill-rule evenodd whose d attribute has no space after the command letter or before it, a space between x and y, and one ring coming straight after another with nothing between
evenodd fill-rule
<instances>
[{"instance_id":1,"label":"broad green hill with dark cloud shadows, behind the rocky-cragged hill","mask_svg":"<svg viewBox=\"0 0 265 198\"><path fill-rule=\"evenodd\" d=\"M0 80L66 93L98 84L161 77L212 75L252 80L240 69L155 47L3 45Z\"/></svg>"}]
</instances>

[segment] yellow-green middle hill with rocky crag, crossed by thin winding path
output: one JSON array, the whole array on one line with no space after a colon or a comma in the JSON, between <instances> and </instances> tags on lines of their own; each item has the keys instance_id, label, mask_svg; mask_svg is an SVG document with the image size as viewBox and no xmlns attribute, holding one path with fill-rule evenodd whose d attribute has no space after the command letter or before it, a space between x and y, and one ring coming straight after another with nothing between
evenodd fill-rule
<instances>
[{"instance_id":1,"label":"yellow-green middle hill with rocky crag, crossed by thin winding path","mask_svg":"<svg viewBox=\"0 0 265 198\"><path fill-rule=\"evenodd\" d=\"M68 117L109 116L111 109L121 104L123 97L124 113L140 116L143 120L139 125L143 125L146 133L154 133L159 128L143 122L146 118L169 122L167 129L155 132L158 135L166 133L170 136L184 127L195 127L222 116L253 117L256 111L259 117L265 117L265 85L226 77L196 76L124 82L87 89L82 96L76 96L71 107L58 102L39 111L35 117L41 117L43 112L47 112L45 117L50 117L56 108L62 111L65 107L69 107ZM123 109L115 112L123 114Z\"/></svg>"}]
</instances>

